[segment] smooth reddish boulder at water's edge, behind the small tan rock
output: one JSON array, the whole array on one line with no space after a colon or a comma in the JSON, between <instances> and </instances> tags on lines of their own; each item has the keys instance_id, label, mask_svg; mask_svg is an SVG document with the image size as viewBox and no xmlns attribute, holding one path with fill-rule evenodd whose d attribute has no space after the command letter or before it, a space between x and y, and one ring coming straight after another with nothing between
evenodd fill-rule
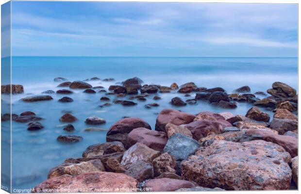
<instances>
[{"instance_id":1,"label":"smooth reddish boulder at water's edge, behind the small tan rock","mask_svg":"<svg viewBox=\"0 0 301 194\"><path fill-rule=\"evenodd\" d=\"M155 130L166 132L165 126L167 123L174 125L188 124L193 121L196 116L190 113L183 113L174 109L163 109L157 119Z\"/></svg>"}]
</instances>

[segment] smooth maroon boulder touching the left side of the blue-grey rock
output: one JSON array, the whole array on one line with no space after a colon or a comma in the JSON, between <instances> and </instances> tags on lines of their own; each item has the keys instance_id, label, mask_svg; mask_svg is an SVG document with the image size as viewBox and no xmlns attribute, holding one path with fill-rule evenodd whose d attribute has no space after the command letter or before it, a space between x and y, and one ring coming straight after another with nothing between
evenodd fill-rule
<instances>
[{"instance_id":1,"label":"smooth maroon boulder touching the left side of the blue-grey rock","mask_svg":"<svg viewBox=\"0 0 301 194\"><path fill-rule=\"evenodd\" d=\"M167 143L167 135L162 131L136 128L128 134L126 147L129 148L137 142L144 144L151 149L162 151Z\"/></svg>"}]
</instances>

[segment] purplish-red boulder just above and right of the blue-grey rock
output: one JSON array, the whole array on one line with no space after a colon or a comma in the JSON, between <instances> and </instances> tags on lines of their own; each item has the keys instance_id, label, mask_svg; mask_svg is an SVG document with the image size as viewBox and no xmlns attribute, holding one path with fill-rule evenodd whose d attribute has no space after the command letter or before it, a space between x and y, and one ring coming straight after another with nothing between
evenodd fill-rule
<instances>
[{"instance_id":1,"label":"purplish-red boulder just above and right of the blue-grey rock","mask_svg":"<svg viewBox=\"0 0 301 194\"><path fill-rule=\"evenodd\" d=\"M199 120L185 125L192 133L193 139L199 140L212 134L220 134L223 132L223 126L217 121Z\"/></svg>"}]
</instances>

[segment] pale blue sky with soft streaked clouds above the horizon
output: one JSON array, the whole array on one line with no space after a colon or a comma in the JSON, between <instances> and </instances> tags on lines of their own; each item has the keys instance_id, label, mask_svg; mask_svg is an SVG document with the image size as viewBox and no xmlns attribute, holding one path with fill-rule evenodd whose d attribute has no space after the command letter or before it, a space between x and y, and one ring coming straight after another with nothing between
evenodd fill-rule
<instances>
[{"instance_id":1,"label":"pale blue sky with soft streaked clouds above the horizon","mask_svg":"<svg viewBox=\"0 0 301 194\"><path fill-rule=\"evenodd\" d=\"M14 56L296 57L297 4L12 3Z\"/></svg>"}]
</instances>

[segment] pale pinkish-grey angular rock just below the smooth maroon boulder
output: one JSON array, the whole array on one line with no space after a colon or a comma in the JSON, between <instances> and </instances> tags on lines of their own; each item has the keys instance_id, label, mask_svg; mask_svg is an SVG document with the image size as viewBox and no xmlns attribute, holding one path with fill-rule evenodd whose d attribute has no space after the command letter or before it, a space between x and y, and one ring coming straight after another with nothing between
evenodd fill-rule
<instances>
[{"instance_id":1,"label":"pale pinkish-grey angular rock just below the smooth maroon boulder","mask_svg":"<svg viewBox=\"0 0 301 194\"><path fill-rule=\"evenodd\" d=\"M159 155L159 151L138 142L123 153L120 163L127 169L137 161L152 162Z\"/></svg>"}]
</instances>

